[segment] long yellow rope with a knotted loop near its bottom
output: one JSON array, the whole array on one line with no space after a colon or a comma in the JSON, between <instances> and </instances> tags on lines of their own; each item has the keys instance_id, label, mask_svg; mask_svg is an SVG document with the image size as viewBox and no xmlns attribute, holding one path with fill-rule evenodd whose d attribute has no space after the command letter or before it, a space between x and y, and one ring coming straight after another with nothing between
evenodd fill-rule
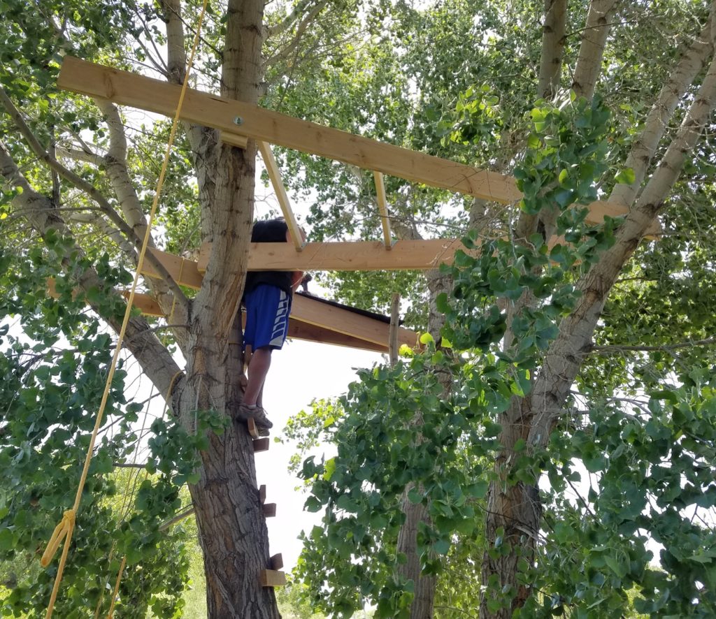
<instances>
[{"instance_id":1,"label":"long yellow rope with a knotted loop near its bottom","mask_svg":"<svg viewBox=\"0 0 716 619\"><path fill-rule=\"evenodd\" d=\"M159 174L159 179L157 181L157 190L154 195L154 200L152 203L152 208L149 213L149 220L147 222L147 230L145 231L144 240L142 241L142 249L140 250L139 254L139 260L137 260L137 270L135 271L135 277L134 281L132 282L132 288L130 290L130 296L127 298L127 309L125 311L125 317L122 321L122 328L120 328L119 336L117 336L117 346L115 348L115 354L112 356L112 363L110 364L110 370L107 374L107 382L105 384L105 391L102 394L102 401L100 402L100 410L97 411L97 419L95 419L95 428L92 430L92 437L89 439L89 447L87 447L87 456L84 458L84 467L82 468L82 475L79 478L79 486L77 487L77 494L74 497L74 505L72 505L71 510L67 510L64 512L64 515L62 515L62 520L59 522L59 525L55 527L54 532L52 533L52 537L50 538L47 549L45 550L44 554L42 555L42 566L47 567L49 565L49 562L52 561L52 557L54 557L55 553L57 552L57 549L59 548L59 545L62 544L64 541L64 547L62 548L62 556L59 560L59 565L57 566L57 575L54 579L54 586L52 587L52 594L49 598L49 604L47 605L47 613L45 614L45 619L50 619L52 617L52 611L54 610L54 603L57 600L57 592L59 590L59 583L62 582L62 573L64 572L64 566L67 563L67 553L69 552L69 544L72 542L72 532L74 531L74 520L77 517L77 511L79 510L79 504L82 502L82 491L84 490L84 483L87 482L87 473L89 472L89 463L92 461L92 452L95 449L95 441L97 439L97 432L100 431L100 427L102 425L102 417L105 414L105 407L107 406L107 399L110 395L110 387L112 386L112 379L115 376L115 369L117 368L117 361L119 361L120 358L120 351L122 350L122 342L125 338L125 333L127 332L127 325L130 321L130 316L132 313L132 306L134 305L134 298L135 298L135 292L137 291L137 283L139 282L139 276L140 272L142 270L142 265L144 264L144 258L147 253L147 246L149 245L149 239L150 234L152 230L152 225L154 223L154 216L157 212L157 208L159 205L159 196L162 192L162 187L164 186L164 179L166 176L167 168L169 167L169 157L171 155L172 146L174 144L174 137L176 135L177 127L179 125L179 114L181 112L182 105L184 103L184 96L186 94L186 89L189 84L189 74L191 71L192 64L194 62L194 54L196 52L196 49L198 48L199 44L199 35L201 31L201 24L204 19L204 14L206 12L206 5L208 4L208 0L204 0L203 6L201 8L201 12L199 14L198 23L196 26L196 34L194 36L194 43L191 49L191 53L189 56L189 61L187 63L187 70L186 74L184 76L184 83L182 84L181 94L179 95L179 102L177 104L177 111L174 115L174 120L172 123L172 129L169 134L169 141L167 144L167 149L164 154L164 161L162 163L162 169Z\"/></svg>"}]
</instances>

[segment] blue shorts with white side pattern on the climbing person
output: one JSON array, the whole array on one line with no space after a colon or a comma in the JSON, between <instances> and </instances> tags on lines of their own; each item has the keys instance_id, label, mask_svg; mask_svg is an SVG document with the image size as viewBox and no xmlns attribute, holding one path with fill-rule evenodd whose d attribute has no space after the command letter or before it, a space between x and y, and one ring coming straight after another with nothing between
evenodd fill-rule
<instances>
[{"instance_id":1,"label":"blue shorts with white side pattern on the climbing person","mask_svg":"<svg viewBox=\"0 0 716 619\"><path fill-rule=\"evenodd\" d=\"M284 346L289 333L291 296L276 286L259 284L243 298L243 303L246 306L243 345L251 345L254 351Z\"/></svg>"}]
</instances>

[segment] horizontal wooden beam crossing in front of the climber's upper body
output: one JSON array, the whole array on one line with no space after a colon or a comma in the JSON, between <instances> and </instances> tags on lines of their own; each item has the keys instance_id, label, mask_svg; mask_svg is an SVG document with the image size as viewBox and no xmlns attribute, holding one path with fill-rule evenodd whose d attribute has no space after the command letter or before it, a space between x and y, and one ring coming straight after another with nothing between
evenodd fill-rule
<instances>
[{"instance_id":1,"label":"horizontal wooden beam crossing in front of the climber's upper body","mask_svg":"<svg viewBox=\"0 0 716 619\"><path fill-rule=\"evenodd\" d=\"M301 253L290 243L251 243L249 270L428 270L452 263L460 239L398 240L390 251L379 240L306 243ZM197 270L205 272L211 245L202 245Z\"/></svg>"}]
</instances>

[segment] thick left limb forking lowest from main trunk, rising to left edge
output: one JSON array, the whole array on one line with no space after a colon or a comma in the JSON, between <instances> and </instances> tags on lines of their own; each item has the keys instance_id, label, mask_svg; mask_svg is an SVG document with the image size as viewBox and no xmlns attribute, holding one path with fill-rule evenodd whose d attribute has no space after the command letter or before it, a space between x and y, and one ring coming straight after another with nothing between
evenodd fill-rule
<instances>
[{"instance_id":1,"label":"thick left limb forking lowest from main trunk, rising to left edge","mask_svg":"<svg viewBox=\"0 0 716 619\"><path fill-rule=\"evenodd\" d=\"M5 145L0 142L0 175L3 176L13 187L21 187L22 192L13 198L14 208L24 210L25 218L37 232L45 236L50 229L57 230L63 236L70 236L67 226L62 218L59 217L52 203L44 195L39 194L27 182L26 178L21 175L20 170L15 164ZM74 264L75 258L71 258L73 254L82 256L84 252L82 248L73 246L64 250L64 258L62 264L69 267ZM90 288L102 290L107 295L117 295L114 291L107 290L104 281L97 275L97 271L88 268L80 276L77 285L80 290L88 291ZM124 299L117 295L118 299L124 303ZM122 321L116 316L103 316L100 308L95 304L89 303L90 306L102 318L110 324L115 332L118 332ZM135 359L139 361L142 370L147 374L160 393L165 393L172 384L175 374L180 372L179 366L175 363L171 354L154 333L149 328L147 321L141 316L130 318L127 325L125 336L127 350L129 350Z\"/></svg>"}]
</instances>

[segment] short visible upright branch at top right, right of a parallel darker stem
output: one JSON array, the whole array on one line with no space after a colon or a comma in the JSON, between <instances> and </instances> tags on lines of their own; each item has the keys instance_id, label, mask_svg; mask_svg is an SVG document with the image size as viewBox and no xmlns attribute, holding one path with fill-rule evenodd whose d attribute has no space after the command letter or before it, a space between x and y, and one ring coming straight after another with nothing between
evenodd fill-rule
<instances>
[{"instance_id":1,"label":"short visible upright branch at top right, right of a parallel darker stem","mask_svg":"<svg viewBox=\"0 0 716 619\"><path fill-rule=\"evenodd\" d=\"M586 29L579 47L572 89L577 97L591 99L594 96L596 80L601 71L609 23L616 6L616 0L592 0L586 18Z\"/></svg>"}]
</instances>

